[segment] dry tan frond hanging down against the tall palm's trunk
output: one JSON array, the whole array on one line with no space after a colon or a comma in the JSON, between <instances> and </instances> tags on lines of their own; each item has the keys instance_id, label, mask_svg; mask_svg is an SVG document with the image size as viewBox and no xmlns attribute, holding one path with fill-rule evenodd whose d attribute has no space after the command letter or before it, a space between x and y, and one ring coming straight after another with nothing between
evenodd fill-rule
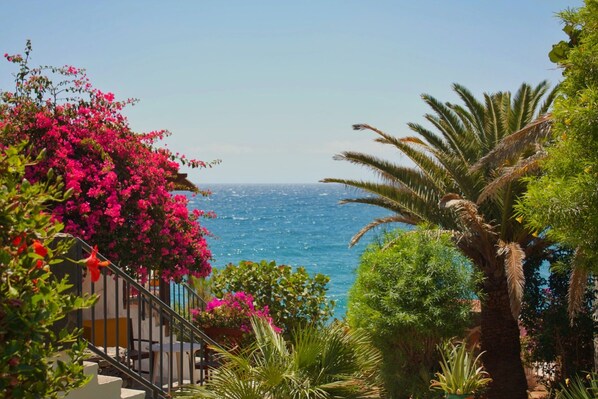
<instances>
[{"instance_id":1,"label":"dry tan frond hanging down against the tall palm's trunk","mask_svg":"<svg viewBox=\"0 0 598 399\"><path fill-rule=\"evenodd\" d=\"M498 241L497 254L505 259L505 275L509 288L509 300L513 318L517 320L521 311L523 299L523 288L525 287L525 276L523 274L523 260L525 252L516 242L506 243Z\"/></svg>"}]
</instances>

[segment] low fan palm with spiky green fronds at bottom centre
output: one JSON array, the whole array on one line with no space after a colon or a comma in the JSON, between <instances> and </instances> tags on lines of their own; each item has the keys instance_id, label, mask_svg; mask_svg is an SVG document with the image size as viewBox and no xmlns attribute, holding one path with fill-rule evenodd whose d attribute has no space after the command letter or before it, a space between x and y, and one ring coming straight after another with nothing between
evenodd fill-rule
<instances>
[{"instance_id":1,"label":"low fan palm with spiky green fronds at bottom centre","mask_svg":"<svg viewBox=\"0 0 598 399\"><path fill-rule=\"evenodd\" d=\"M252 320L256 342L240 353L219 350L223 365L182 397L219 399L380 398L381 356L362 332L333 324L301 327L291 344L266 321Z\"/></svg>"}]
</instances>

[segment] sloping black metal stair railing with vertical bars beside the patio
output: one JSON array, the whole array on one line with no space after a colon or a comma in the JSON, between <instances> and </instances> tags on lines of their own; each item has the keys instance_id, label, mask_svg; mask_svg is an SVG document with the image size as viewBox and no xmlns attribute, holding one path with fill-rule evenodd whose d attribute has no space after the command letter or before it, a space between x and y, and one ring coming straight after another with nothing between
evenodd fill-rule
<instances>
[{"instance_id":1,"label":"sloping black metal stair railing with vertical bars beside the patio","mask_svg":"<svg viewBox=\"0 0 598 399\"><path fill-rule=\"evenodd\" d=\"M75 239L71 257L83 259L92 248ZM106 260L98 254L100 260ZM98 301L90 309L79 311L77 326L83 329L89 348L119 372L140 384L151 397L168 397L184 384L203 384L209 367L214 365L208 346L219 347L203 331L190 323L116 265L101 268L100 279L91 282L89 272L81 276L74 270L78 294L96 294ZM185 298L187 313L201 298ZM199 299L198 299L199 298ZM199 301L199 302L198 302ZM179 305L181 306L181 305Z\"/></svg>"}]
</instances>

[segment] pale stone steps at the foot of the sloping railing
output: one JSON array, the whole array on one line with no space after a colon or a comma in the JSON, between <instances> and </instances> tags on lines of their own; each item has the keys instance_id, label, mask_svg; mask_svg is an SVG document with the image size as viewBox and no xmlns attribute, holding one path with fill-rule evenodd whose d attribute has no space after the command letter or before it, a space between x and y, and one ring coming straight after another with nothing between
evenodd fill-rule
<instances>
[{"instance_id":1,"label":"pale stone steps at the foot of the sloping railing","mask_svg":"<svg viewBox=\"0 0 598 399\"><path fill-rule=\"evenodd\" d=\"M84 362L85 374L92 379L79 389L71 391L65 399L144 399L145 391L122 387L122 379L98 374L98 364Z\"/></svg>"}]
</instances>

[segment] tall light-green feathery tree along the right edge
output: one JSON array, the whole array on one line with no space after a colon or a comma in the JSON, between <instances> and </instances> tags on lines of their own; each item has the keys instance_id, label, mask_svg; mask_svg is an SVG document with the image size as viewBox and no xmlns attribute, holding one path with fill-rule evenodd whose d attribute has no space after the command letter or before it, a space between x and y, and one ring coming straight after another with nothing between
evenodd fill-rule
<instances>
[{"instance_id":1,"label":"tall light-green feathery tree along the right edge","mask_svg":"<svg viewBox=\"0 0 598 399\"><path fill-rule=\"evenodd\" d=\"M576 250L573 314L583 303L588 275L598 270L598 2L588 0L560 16L571 40L553 57L565 78L552 112L552 142L519 210L532 228Z\"/></svg>"}]
</instances>

